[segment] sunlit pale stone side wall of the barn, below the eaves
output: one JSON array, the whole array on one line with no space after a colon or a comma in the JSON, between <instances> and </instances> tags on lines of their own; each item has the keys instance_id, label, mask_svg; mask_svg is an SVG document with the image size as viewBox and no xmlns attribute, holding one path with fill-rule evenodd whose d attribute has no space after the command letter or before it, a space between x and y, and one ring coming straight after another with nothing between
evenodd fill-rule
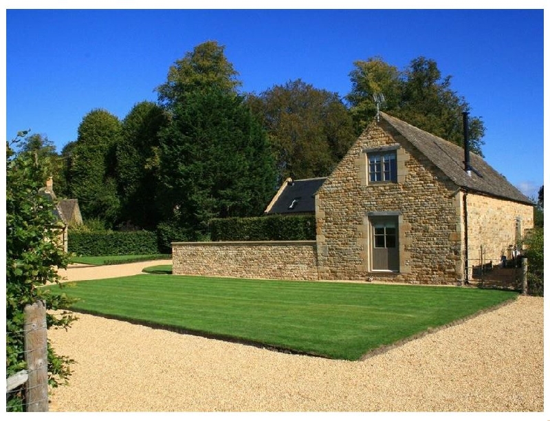
<instances>
[{"instance_id":1,"label":"sunlit pale stone side wall of the barn, below the eaves","mask_svg":"<svg viewBox=\"0 0 550 421\"><path fill-rule=\"evenodd\" d=\"M469 266L510 259L512 247L533 228L533 206L471 192L466 197Z\"/></svg>"}]
</instances>

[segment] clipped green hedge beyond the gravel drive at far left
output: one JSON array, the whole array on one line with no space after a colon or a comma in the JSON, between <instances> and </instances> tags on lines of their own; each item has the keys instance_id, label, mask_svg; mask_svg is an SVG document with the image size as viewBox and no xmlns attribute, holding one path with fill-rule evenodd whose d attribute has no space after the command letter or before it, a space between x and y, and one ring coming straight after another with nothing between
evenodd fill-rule
<instances>
[{"instance_id":1,"label":"clipped green hedge beyond the gravel drive at far left","mask_svg":"<svg viewBox=\"0 0 550 421\"><path fill-rule=\"evenodd\" d=\"M120 256L158 254L157 235L150 231L71 233L69 252L78 256Z\"/></svg>"}]
</instances>

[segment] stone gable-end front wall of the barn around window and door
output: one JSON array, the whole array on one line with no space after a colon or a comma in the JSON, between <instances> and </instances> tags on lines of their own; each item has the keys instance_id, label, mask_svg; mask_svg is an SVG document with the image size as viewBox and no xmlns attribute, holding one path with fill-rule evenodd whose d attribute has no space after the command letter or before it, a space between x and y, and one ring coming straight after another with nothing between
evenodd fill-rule
<instances>
[{"instance_id":1,"label":"stone gable-end front wall of the barn around window and door","mask_svg":"<svg viewBox=\"0 0 550 421\"><path fill-rule=\"evenodd\" d=\"M368 181L368 155L395 149L397 182ZM316 197L319 279L452 284L462 278L459 191L403 136L365 131ZM372 270L373 215L399 219L399 271Z\"/></svg>"}]
</instances>

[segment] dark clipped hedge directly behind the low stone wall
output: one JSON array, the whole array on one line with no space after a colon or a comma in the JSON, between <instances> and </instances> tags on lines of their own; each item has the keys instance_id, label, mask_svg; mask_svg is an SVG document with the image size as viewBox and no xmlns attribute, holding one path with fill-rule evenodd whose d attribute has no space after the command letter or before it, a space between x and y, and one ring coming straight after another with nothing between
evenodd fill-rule
<instances>
[{"instance_id":1,"label":"dark clipped hedge directly behind the low stone wall","mask_svg":"<svg viewBox=\"0 0 550 421\"><path fill-rule=\"evenodd\" d=\"M212 241L314 240L314 215L223 218L210 221Z\"/></svg>"}]
</instances>

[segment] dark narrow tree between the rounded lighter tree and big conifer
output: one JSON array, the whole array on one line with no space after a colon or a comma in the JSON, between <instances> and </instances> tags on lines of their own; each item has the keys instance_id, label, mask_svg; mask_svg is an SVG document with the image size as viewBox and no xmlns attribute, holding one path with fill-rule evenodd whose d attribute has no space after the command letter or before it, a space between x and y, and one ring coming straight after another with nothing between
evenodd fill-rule
<instances>
[{"instance_id":1,"label":"dark narrow tree between the rounded lighter tree and big conifer","mask_svg":"<svg viewBox=\"0 0 550 421\"><path fill-rule=\"evenodd\" d=\"M153 229L159 222L157 205L159 131L168 115L154 102L139 102L122 122L116 146L120 218L133 226Z\"/></svg>"}]
</instances>

